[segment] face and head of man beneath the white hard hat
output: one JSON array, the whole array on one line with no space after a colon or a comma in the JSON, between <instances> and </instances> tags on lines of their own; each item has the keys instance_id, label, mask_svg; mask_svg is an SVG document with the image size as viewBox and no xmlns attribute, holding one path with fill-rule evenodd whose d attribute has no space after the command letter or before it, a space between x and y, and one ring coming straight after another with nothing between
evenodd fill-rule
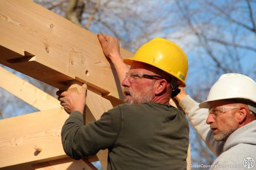
<instances>
[{"instance_id":1,"label":"face and head of man beneath the white hard hat","mask_svg":"<svg viewBox=\"0 0 256 170\"><path fill-rule=\"evenodd\" d=\"M256 119L246 102L236 99L217 100L208 102L209 115L206 123L217 141L226 139L237 129Z\"/></svg>"}]
</instances>

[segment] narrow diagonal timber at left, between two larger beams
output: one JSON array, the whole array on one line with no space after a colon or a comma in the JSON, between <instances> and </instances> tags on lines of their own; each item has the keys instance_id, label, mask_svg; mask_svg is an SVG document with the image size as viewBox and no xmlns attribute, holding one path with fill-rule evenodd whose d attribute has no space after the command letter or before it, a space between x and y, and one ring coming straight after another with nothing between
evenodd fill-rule
<instances>
[{"instance_id":1,"label":"narrow diagonal timber at left, between two larger beams","mask_svg":"<svg viewBox=\"0 0 256 170\"><path fill-rule=\"evenodd\" d=\"M0 87L43 111L61 107L58 100L0 66Z\"/></svg>"}]
</instances>

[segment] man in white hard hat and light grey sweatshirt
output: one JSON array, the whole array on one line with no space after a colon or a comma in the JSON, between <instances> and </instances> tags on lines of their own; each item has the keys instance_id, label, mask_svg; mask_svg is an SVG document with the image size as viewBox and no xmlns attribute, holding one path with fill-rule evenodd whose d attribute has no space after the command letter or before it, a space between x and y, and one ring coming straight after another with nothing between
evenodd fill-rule
<instances>
[{"instance_id":1,"label":"man in white hard hat and light grey sweatshirt","mask_svg":"<svg viewBox=\"0 0 256 170\"><path fill-rule=\"evenodd\" d=\"M175 98L200 137L217 156L213 165L256 165L256 84L241 74L225 74L197 103L182 90ZM214 167L212 167L214 168Z\"/></svg>"}]
</instances>

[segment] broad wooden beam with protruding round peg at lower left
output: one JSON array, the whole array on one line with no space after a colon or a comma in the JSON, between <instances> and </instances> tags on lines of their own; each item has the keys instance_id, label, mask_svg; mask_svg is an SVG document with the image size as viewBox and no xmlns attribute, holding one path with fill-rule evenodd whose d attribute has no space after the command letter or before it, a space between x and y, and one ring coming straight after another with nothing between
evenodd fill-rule
<instances>
[{"instance_id":1,"label":"broad wooden beam with protruding round peg at lower left","mask_svg":"<svg viewBox=\"0 0 256 170\"><path fill-rule=\"evenodd\" d=\"M87 110L86 122L93 116ZM61 127L68 114L61 108L0 121L0 167L67 157L61 144ZM34 149L38 144L41 152Z\"/></svg>"}]
</instances>

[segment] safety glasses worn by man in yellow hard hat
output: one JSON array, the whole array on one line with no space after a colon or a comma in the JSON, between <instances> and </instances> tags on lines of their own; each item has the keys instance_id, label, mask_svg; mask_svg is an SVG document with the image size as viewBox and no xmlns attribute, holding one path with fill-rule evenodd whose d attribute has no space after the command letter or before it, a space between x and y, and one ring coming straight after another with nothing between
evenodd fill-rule
<instances>
[{"instance_id":1,"label":"safety glasses worn by man in yellow hard hat","mask_svg":"<svg viewBox=\"0 0 256 170\"><path fill-rule=\"evenodd\" d=\"M155 80L163 79L161 76L147 75L147 74L138 73L138 72L126 72L125 76L129 80L130 83L139 82L142 78L155 79Z\"/></svg>"}]
</instances>

